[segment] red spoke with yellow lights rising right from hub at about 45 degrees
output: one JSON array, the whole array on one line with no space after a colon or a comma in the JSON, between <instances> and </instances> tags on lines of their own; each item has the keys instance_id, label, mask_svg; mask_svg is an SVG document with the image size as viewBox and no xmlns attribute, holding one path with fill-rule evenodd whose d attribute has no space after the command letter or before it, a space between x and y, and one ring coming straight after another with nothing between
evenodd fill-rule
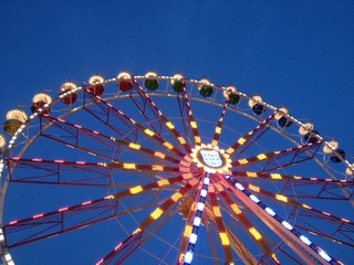
<instances>
[{"instance_id":1,"label":"red spoke with yellow lights rising right from hub at about 45 degrees","mask_svg":"<svg viewBox=\"0 0 354 265\"><path fill-rule=\"evenodd\" d=\"M271 114L253 130L240 137L226 150L226 153L230 155L232 160L236 160L237 157L244 152L258 138L260 138L270 128L268 124L273 120L274 115L274 113Z\"/></svg>"}]
</instances>

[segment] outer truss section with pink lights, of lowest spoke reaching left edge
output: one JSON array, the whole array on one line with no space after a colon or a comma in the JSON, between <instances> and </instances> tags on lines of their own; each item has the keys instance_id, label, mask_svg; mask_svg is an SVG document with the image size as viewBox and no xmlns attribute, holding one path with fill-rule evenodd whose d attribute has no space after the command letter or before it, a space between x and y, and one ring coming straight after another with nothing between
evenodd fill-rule
<instances>
[{"instance_id":1,"label":"outer truss section with pink lights, of lowest spoke reaching left edge","mask_svg":"<svg viewBox=\"0 0 354 265\"><path fill-rule=\"evenodd\" d=\"M2 230L8 247L15 247L107 221L115 216L117 205L117 199L106 197L12 221Z\"/></svg>"}]
</instances>

